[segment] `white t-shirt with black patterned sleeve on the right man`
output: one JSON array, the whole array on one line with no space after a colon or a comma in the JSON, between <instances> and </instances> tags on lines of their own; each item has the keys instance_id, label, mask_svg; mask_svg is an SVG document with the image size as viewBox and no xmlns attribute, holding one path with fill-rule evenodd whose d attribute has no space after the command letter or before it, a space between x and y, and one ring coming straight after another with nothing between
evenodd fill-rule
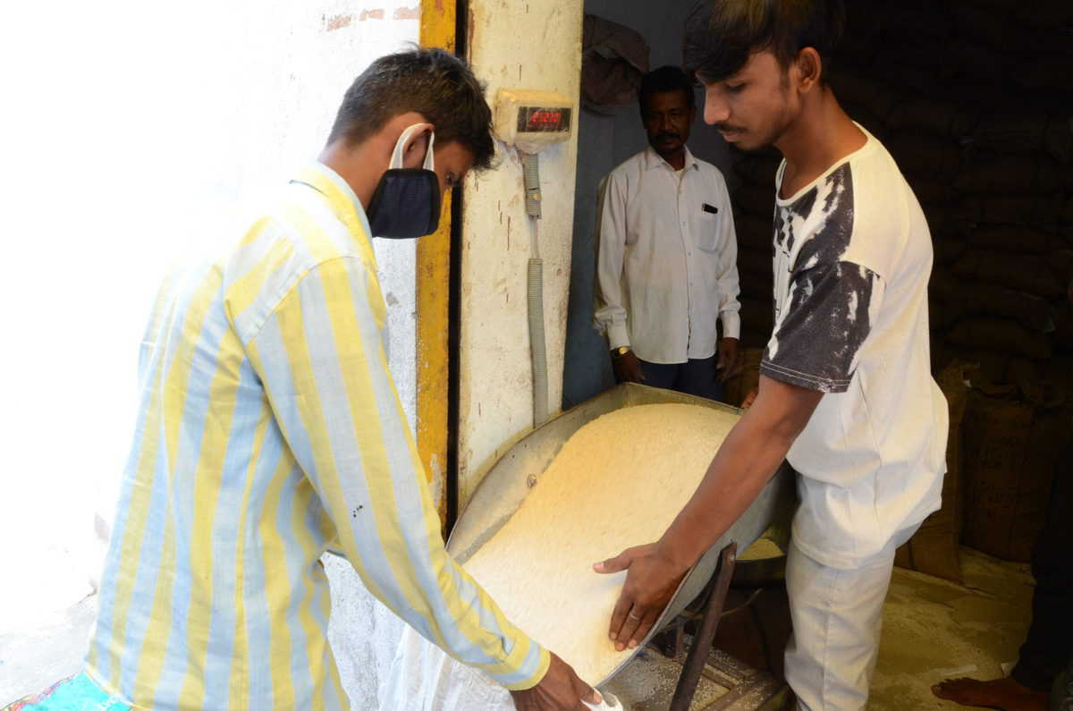
<instances>
[{"instance_id":1,"label":"white t-shirt with black patterned sleeve on the right man","mask_svg":"<svg viewBox=\"0 0 1073 711\"><path fill-rule=\"evenodd\" d=\"M870 134L777 200L760 372L826 393L787 455L802 475L794 540L825 565L855 567L939 508L947 412L931 378L930 273L924 213Z\"/></svg>"}]
</instances>

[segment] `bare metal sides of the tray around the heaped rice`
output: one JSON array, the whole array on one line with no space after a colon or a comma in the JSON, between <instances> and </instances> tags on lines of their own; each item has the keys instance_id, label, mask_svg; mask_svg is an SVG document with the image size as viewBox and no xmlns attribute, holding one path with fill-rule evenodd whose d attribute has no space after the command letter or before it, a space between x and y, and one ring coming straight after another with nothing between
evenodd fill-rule
<instances>
[{"instance_id":1,"label":"bare metal sides of the tray around the heaped rice","mask_svg":"<svg viewBox=\"0 0 1073 711\"><path fill-rule=\"evenodd\" d=\"M508 450L488 469L466 509L458 517L447 539L447 551L456 561L465 564L518 510L521 502L536 485L565 441L586 423L623 407L661 403L700 405L734 415L741 412L736 407L671 390L635 383L616 386L536 427ZM701 594L716 569L720 551L727 543L735 541L738 550L744 551L760 538L771 523L789 521L793 514L795 497L792 474L783 464L741 518L686 574L674 597L644 641L647 642L678 616ZM644 643L638 644L634 649L634 654L643 647ZM632 656L631 654L599 684L614 677Z\"/></svg>"}]
</instances>

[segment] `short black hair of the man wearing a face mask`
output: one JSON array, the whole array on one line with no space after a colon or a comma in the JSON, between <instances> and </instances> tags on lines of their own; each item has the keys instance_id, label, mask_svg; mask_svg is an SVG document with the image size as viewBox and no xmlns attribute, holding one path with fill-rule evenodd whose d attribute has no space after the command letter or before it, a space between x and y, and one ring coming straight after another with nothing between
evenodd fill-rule
<instances>
[{"instance_id":1,"label":"short black hair of the man wearing a face mask","mask_svg":"<svg viewBox=\"0 0 1073 711\"><path fill-rule=\"evenodd\" d=\"M491 164L496 149L484 86L465 61L435 47L414 47L369 64L347 89L328 143L361 143L411 111L436 126L437 144L461 144L473 154L475 170Z\"/></svg>"}]
</instances>

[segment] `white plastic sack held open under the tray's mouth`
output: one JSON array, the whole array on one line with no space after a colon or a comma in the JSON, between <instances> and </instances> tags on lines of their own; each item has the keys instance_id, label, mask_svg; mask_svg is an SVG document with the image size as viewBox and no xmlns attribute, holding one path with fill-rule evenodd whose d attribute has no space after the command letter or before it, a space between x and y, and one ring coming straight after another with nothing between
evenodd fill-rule
<instances>
[{"instance_id":1,"label":"white plastic sack held open under the tray's mouth","mask_svg":"<svg viewBox=\"0 0 1073 711\"><path fill-rule=\"evenodd\" d=\"M590 709L628 711L611 694ZM476 669L453 659L407 627L387 680L380 711L513 711L511 693Z\"/></svg>"}]
</instances>

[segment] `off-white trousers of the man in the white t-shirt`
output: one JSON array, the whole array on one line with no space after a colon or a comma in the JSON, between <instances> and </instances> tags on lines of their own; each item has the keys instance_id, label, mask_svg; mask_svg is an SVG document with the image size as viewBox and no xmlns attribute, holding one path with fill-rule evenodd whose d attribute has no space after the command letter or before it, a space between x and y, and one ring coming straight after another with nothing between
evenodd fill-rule
<instances>
[{"instance_id":1,"label":"off-white trousers of the man in the white t-shirt","mask_svg":"<svg viewBox=\"0 0 1073 711\"><path fill-rule=\"evenodd\" d=\"M867 705L894 552L917 527L898 532L880 553L849 570L823 565L791 541L793 637L785 674L803 711L858 711Z\"/></svg>"}]
</instances>

